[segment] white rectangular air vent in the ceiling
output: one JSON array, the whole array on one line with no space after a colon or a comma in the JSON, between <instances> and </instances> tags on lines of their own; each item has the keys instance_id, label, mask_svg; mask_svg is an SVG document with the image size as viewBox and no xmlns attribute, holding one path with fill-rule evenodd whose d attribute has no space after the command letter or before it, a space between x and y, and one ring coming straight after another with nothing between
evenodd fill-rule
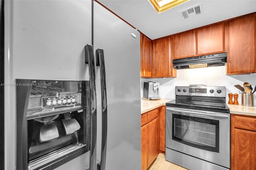
<instances>
[{"instance_id":1,"label":"white rectangular air vent in the ceiling","mask_svg":"<svg viewBox=\"0 0 256 170\"><path fill-rule=\"evenodd\" d=\"M182 20L186 20L188 18L200 15L204 13L203 4L197 4L195 6L191 6L190 8L187 8L185 10L179 11L180 17Z\"/></svg>"}]
</instances>

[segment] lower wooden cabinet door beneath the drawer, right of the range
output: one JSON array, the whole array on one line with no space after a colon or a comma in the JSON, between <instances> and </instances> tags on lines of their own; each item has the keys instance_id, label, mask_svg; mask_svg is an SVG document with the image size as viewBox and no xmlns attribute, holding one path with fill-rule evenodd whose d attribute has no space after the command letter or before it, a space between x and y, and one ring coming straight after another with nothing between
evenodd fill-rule
<instances>
[{"instance_id":1,"label":"lower wooden cabinet door beneath the drawer, right of the range","mask_svg":"<svg viewBox=\"0 0 256 170\"><path fill-rule=\"evenodd\" d=\"M234 130L234 169L256 169L256 132Z\"/></svg>"}]
</instances>

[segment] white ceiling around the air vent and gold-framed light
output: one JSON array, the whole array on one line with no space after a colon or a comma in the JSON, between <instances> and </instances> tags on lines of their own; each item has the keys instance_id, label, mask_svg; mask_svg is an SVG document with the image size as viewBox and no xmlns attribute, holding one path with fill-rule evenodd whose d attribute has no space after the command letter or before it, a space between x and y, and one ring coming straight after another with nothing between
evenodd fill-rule
<instances>
[{"instance_id":1,"label":"white ceiling around the air vent and gold-framed light","mask_svg":"<svg viewBox=\"0 0 256 170\"><path fill-rule=\"evenodd\" d=\"M256 0L190 0L158 14L148 0L98 0L152 40L256 11ZM203 3L204 14L182 20L179 11Z\"/></svg>"}]
</instances>

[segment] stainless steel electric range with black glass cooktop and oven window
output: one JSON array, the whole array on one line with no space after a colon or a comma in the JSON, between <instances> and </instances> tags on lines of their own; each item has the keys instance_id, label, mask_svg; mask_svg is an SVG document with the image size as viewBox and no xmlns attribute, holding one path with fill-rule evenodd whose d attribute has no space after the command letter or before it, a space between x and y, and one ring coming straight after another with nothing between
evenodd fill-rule
<instances>
[{"instance_id":1,"label":"stainless steel electric range with black glass cooktop and oven window","mask_svg":"<svg viewBox=\"0 0 256 170\"><path fill-rule=\"evenodd\" d=\"M190 170L230 169L226 87L175 88L166 103L166 160Z\"/></svg>"}]
</instances>

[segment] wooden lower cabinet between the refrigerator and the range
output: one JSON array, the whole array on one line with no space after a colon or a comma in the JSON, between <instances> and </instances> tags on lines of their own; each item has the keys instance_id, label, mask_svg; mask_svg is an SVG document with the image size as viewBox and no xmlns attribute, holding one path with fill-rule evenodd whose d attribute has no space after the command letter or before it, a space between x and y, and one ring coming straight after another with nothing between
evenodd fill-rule
<instances>
[{"instance_id":1,"label":"wooden lower cabinet between the refrigerator and the range","mask_svg":"<svg viewBox=\"0 0 256 170\"><path fill-rule=\"evenodd\" d=\"M146 170L159 152L165 152L165 106L141 116L141 161Z\"/></svg>"}]
</instances>

